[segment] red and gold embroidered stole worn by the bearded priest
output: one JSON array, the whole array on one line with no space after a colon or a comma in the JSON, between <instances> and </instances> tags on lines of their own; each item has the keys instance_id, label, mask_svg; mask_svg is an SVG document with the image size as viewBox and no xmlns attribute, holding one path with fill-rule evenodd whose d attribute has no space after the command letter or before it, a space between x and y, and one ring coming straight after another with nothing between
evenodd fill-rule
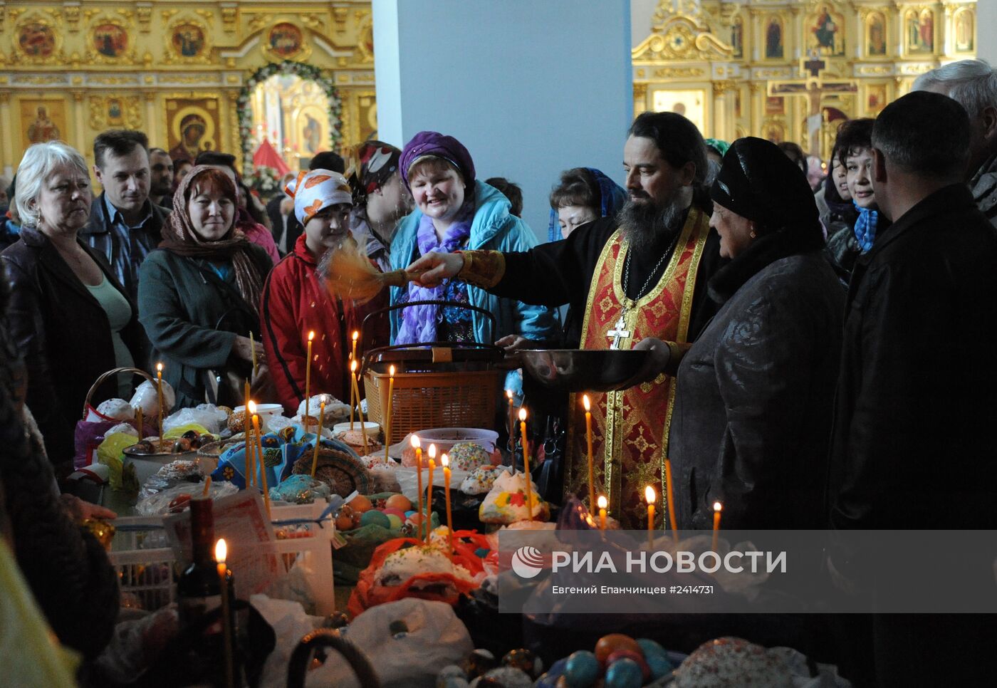
<instances>
[{"instance_id":1,"label":"red and gold embroidered stole worn by the bearded priest","mask_svg":"<svg viewBox=\"0 0 997 688\"><path fill-rule=\"evenodd\" d=\"M626 331L619 348L631 349L645 337L685 342L689 331L696 271L709 233L709 215L693 207L661 279L646 295L632 301L623 293L623 266L629 244L620 231L606 242L592 275L582 324L581 348L608 349L623 315ZM624 311L625 309L625 311ZM664 504L664 466L668 452L674 380L664 374L654 381L620 392L593 393L592 455L595 493L609 499L609 511L625 528L647 526L644 488L654 487ZM565 495L579 499L588 495L588 458L585 443L585 413L578 395L569 401Z\"/></svg>"}]
</instances>

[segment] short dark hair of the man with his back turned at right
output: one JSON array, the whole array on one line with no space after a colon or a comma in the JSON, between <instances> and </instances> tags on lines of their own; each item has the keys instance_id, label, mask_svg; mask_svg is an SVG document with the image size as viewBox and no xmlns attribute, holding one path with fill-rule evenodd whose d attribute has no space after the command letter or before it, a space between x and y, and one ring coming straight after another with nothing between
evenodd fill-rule
<instances>
[{"instance_id":1,"label":"short dark hair of the man with his back turned at right","mask_svg":"<svg viewBox=\"0 0 997 688\"><path fill-rule=\"evenodd\" d=\"M969 160L969 116L948 96L915 91L879 113L872 147L904 172L962 178Z\"/></svg>"}]
</instances>

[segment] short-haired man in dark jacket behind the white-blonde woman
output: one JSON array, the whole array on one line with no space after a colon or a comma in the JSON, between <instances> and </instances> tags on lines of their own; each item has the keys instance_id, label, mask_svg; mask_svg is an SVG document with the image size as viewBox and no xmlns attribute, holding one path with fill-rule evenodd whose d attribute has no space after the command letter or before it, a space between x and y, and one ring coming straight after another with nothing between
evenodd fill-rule
<instances>
[{"instance_id":1,"label":"short-haired man in dark jacket behind the white-blonde woman","mask_svg":"<svg viewBox=\"0 0 997 688\"><path fill-rule=\"evenodd\" d=\"M149 198L149 139L142 132L112 130L94 139L94 173L104 186L80 238L104 254L133 300L139 266L163 238L169 210Z\"/></svg>"}]
</instances>

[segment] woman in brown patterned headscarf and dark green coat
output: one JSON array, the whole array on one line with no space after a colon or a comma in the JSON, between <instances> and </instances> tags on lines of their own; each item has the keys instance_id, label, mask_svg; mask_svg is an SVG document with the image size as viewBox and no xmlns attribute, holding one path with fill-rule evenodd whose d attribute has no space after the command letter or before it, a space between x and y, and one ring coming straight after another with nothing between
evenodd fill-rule
<instances>
[{"instance_id":1,"label":"woman in brown patterned headscarf and dark green coat","mask_svg":"<svg viewBox=\"0 0 997 688\"><path fill-rule=\"evenodd\" d=\"M194 167L173 194L163 243L140 270L140 318L181 407L240 403L238 381L252 375L249 338L259 334L259 297L272 263L235 228L237 198L228 173ZM264 362L262 344L255 350ZM219 386L219 377L229 384ZM253 385L268 377L261 365Z\"/></svg>"}]
</instances>

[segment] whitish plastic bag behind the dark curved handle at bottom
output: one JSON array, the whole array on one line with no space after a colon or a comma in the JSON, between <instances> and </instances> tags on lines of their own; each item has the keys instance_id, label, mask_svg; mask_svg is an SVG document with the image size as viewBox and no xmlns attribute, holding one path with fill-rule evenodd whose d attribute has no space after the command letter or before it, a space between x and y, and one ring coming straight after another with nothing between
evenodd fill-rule
<instances>
[{"instance_id":1,"label":"whitish plastic bag behind the dark curved handle at bottom","mask_svg":"<svg viewBox=\"0 0 997 688\"><path fill-rule=\"evenodd\" d=\"M406 631L393 631L404 624ZM343 635L372 661L383 686L436 685L440 667L457 664L475 649L467 626L448 604L402 599L358 616ZM356 688L349 665L333 653L308 674L308 686Z\"/></svg>"}]
</instances>

